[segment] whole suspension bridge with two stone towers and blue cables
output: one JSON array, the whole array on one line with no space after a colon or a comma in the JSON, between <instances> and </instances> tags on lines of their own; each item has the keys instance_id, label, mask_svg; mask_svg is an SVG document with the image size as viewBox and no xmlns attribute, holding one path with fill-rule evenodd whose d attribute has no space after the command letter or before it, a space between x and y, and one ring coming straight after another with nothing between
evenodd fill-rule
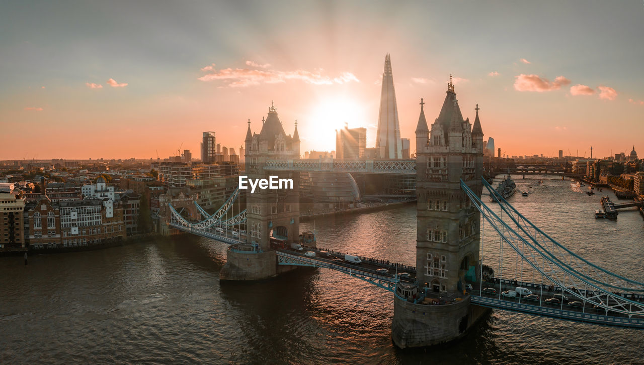
<instances>
[{"instance_id":1,"label":"whole suspension bridge with two stone towers and blue cables","mask_svg":"<svg viewBox=\"0 0 644 365\"><path fill-rule=\"evenodd\" d=\"M431 129L422 99L420 105L417 159L372 161L299 159L297 125L287 135L272 105L259 134L251 131L249 122L247 174L253 179L277 174L293 179L294 188L249 193L246 210L233 217L226 212L234 206L238 191L212 215L196 206L191 217L184 217L170 206L169 225L231 244L221 280L261 280L302 266L325 267L392 291L392 340L401 348L462 337L490 308L644 329L644 283L581 258L481 178L483 132L478 105L474 122L464 119L450 82ZM315 242L304 242L299 232L299 172L329 170L415 174L415 267L366 257L356 265L342 260L343 253L323 252ZM484 189L497 198L501 213L480 199ZM500 238L499 257L486 258L485 265L480 254L483 224L489 224ZM497 236L489 242L496 242ZM276 241L282 244L276 247ZM291 243L294 249L289 248ZM297 249L298 244L305 244L304 249ZM504 251L506 256L514 255L515 265L521 267L512 280L503 269ZM525 290L506 290L514 287Z\"/></svg>"}]
</instances>

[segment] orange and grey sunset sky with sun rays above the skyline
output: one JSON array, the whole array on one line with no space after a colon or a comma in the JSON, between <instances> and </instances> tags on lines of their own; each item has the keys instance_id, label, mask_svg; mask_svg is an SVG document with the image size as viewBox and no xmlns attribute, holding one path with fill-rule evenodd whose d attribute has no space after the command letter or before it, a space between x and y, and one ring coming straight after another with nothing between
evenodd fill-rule
<instances>
[{"instance_id":1,"label":"orange and grey sunset sky with sun rays above the skyline","mask_svg":"<svg viewBox=\"0 0 644 365\"><path fill-rule=\"evenodd\" d=\"M641 0L3 1L0 34L0 159L238 150L272 100L302 152L373 147L386 53L412 152L451 73L504 153L644 155Z\"/></svg>"}]
</instances>

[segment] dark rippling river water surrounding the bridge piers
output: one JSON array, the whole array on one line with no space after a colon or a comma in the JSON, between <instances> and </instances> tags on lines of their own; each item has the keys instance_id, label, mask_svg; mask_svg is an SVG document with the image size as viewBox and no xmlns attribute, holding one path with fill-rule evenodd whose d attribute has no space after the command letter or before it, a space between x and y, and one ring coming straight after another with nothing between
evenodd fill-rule
<instances>
[{"instance_id":1,"label":"dark rippling river water surrounding the bridge piers","mask_svg":"<svg viewBox=\"0 0 644 365\"><path fill-rule=\"evenodd\" d=\"M637 211L595 220L599 193L542 179L517 177L531 194L511 203L585 258L644 280ZM321 247L415 264L413 205L301 225L314 226ZM483 255L498 256L485 229ZM0 258L0 363L644 363L644 332L498 310L459 343L398 350L390 292L325 269L220 283L224 262L225 244L191 236L37 255L26 267Z\"/></svg>"}]
</instances>

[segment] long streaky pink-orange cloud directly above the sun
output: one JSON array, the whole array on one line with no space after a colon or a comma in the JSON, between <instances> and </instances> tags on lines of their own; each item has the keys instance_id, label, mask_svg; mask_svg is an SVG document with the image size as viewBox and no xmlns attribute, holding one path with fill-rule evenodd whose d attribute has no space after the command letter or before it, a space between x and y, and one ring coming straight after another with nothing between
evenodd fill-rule
<instances>
[{"instance_id":1,"label":"long streaky pink-orange cloud directly above the sun","mask_svg":"<svg viewBox=\"0 0 644 365\"><path fill-rule=\"evenodd\" d=\"M204 67L207 68L208 66ZM203 70L203 69L202 69ZM354 74L343 72L340 76L331 78L330 76L322 75L321 69L316 71L306 71L296 69L294 71L278 71L272 69L208 69L211 71L198 80L204 82L223 80L227 82L229 87L247 87L249 85L259 84L278 84L290 80L299 80L307 84L313 85L331 85L331 84L344 84L346 82L360 82Z\"/></svg>"}]
</instances>

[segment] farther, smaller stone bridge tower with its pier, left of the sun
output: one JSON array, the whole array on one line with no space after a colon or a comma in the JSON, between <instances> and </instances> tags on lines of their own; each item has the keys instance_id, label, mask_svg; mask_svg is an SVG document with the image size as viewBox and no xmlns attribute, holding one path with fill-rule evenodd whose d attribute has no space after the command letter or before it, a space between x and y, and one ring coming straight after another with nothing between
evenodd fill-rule
<instances>
[{"instance_id":1,"label":"farther, smaller stone bridge tower with its pier, left of the sun","mask_svg":"<svg viewBox=\"0 0 644 365\"><path fill-rule=\"evenodd\" d=\"M296 121L293 136L287 135L278 118L277 108L269 107L262 119L259 134L251 132L251 121L245 139L246 174L249 179L292 179L292 188L246 191L247 244L254 254L227 250L227 263L220 278L223 280L260 280L276 274L275 251L271 251L269 237L299 242L299 173L265 172L267 160L299 159L299 134Z\"/></svg>"}]
</instances>

